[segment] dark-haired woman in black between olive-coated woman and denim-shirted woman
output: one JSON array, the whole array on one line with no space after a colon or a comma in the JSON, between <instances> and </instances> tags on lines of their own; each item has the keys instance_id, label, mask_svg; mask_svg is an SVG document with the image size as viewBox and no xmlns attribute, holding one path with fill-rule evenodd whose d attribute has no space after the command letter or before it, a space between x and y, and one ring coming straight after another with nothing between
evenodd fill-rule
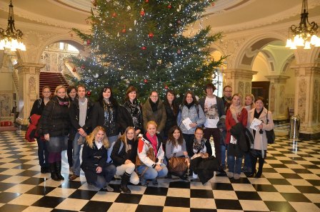
<instances>
[{"instance_id":1,"label":"dark-haired woman in black between olive-coated woman and denim-shirted woman","mask_svg":"<svg viewBox=\"0 0 320 212\"><path fill-rule=\"evenodd\" d=\"M166 91L164 108L166 109L166 125L164 126L164 137L166 138L169 136L169 129L176 125L176 117L179 113L179 105L176 102L176 94L173 90Z\"/></svg>"}]
</instances>

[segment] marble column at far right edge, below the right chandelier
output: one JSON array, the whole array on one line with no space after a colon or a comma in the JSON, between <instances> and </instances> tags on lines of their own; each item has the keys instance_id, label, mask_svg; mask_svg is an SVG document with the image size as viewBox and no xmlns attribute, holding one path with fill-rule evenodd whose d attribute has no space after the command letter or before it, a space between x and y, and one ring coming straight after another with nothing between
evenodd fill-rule
<instances>
[{"instance_id":1,"label":"marble column at far right edge, below the right chandelier","mask_svg":"<svg viewBox=\"0 0 320 212\"><path fill-rule=\"evenodd\" d=\"M294 115L300 117L300 138L320 137L320 63L291 66L296 74Z\"/></svg>"}]
</instances>

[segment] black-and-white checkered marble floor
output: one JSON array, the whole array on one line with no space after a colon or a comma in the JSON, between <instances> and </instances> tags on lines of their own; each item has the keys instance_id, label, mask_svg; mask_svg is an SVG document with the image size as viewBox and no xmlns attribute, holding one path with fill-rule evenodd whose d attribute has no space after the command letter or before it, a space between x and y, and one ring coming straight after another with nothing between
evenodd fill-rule
<instances>
[{"instance_id":1,"label":"black-and-white checkered marble floor","mask_svg":"<svg viewBox=\"0 0 320 212\"><path fill-rule=\"evenodd\" d=\"M260 179L159 179L159 186L129 186L132 194L121 194L120 181L111 182L116 192L99 191L82 172L77 181L52 181L40 173L36 143L23 137L0 132L0 211L320 211L320 140L277 137ZM65 157L63 163L68 179Z\"/></svg>"}]
</instances>

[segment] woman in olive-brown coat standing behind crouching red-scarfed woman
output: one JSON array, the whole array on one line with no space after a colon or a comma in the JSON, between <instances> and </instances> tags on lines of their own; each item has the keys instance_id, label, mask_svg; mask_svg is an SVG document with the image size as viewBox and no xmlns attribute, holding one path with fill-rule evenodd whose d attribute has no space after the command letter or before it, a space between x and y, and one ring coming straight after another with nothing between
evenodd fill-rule
<instances>
[{"instance_id":1,"label":"woman in olive-brown coat standing behind crouching red-scarfed woman","mask_svg":"<svg viewBox=\"0 0 320 212\"><path fill-rule=\"evenodd\" d=\"M144 120L144 129L146 129L146 123L154 121L158 125L156 133L164 137L166 109L164 108L164 103L159 99L159 94L156 90L150 92L149 99L142 106L142 118Z\"/></svg>"}]
</instances>

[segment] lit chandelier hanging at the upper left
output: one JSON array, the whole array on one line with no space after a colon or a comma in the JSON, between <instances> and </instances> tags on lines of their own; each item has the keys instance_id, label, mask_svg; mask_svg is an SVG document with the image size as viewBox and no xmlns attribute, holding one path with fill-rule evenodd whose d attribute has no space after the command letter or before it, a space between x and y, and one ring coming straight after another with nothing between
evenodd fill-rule
<instances>
[{"instance_id":1,"label":"lit chandelier hanging at the upper left","mask_svg":"<svg viewBox=\"0 0 320 212\"><path fill-rule=\"evenodd\" d=\"M24 33L14 27L14 6L10 0L8 26L6 27L6 30L0 28L0 50L8 48L11 51L16 51L16 49L26 51L26 46L22 43L23 36Z\"/></svg>"}]
</instances>

